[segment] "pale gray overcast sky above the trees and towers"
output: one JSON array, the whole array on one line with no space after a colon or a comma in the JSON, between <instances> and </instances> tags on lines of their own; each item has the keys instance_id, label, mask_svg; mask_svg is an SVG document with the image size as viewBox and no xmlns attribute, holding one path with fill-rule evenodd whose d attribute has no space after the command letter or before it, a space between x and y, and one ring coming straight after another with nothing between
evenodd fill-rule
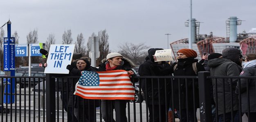
<instances>
[{"instance_id":1,"label":"pale gray overcast sky above the trees and towers","mask_svg":"<svg viewBox=\"0 0 256 122\"><path fill-rule=\"evenodd\" d=\"M17 31L19 44L26 44L27 34L38 29L38 41L50 33L56 44L62 43L64 30L71 29L73 43L83 33L88 37L107 30L110 50L125 42L145 43L151 48L167 48L169 42L188 38L190 0L4 0L0 4L0 25L10 18L11 33ZM236 16L245 20L238 33L256 31L256 0L193 0L193 18L200 24L200 34L212 31L226 37L225 21ZM4 27L7 36L7 26Z\"/></svg>"}]
</instances>

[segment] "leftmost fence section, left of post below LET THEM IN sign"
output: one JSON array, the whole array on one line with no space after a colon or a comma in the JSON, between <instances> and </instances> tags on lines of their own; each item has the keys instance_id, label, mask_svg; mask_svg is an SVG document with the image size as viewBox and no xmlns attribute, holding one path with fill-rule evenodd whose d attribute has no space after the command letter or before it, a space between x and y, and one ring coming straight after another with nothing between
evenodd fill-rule
<instances>
[{"instance_id":1,"label":"leftmost fence section, left of post below LET THEM IN sign","mask_svg":"<svg viewBox=\"0 0 256 122\"><path fill-rule=\"evenodd\" d=\"M34 92L35 86L40 82L43 83L41 87L45 89L45 77L0 77L0 121L40 122L45 120L45 100L41 100L45 98L43 94L45 90ZM12 87L13 84L19 87ZM38 84L39 88L40 84Z\"/></svg>"}]
</instances>

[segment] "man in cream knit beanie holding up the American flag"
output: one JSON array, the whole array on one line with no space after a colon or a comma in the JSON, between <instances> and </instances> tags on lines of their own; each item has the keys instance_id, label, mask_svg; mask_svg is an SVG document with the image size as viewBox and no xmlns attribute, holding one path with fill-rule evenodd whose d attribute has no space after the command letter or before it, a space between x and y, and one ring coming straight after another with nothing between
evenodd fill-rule
<instances>
[{"instance_id":1,"label":"man in cream knit beanie holding up the American flag","mask_svg":"<svg viewBox=\"0 0 256 122\"><path fill-rule=\"evenodd\" d=\"M110 70L126 70L130 76L135 75L132 71L134 64L125 59L121 54L117 52L111 52L107 55L106 60L99 65L98 71L110 71ZM126 117L126 103L128 100L101 100L101 114L105 122L115 122L112 114L113 109L119 109L121 122L127 122ZM120 107L120 108L117 108Z\"/></svg>"}]
</instances>

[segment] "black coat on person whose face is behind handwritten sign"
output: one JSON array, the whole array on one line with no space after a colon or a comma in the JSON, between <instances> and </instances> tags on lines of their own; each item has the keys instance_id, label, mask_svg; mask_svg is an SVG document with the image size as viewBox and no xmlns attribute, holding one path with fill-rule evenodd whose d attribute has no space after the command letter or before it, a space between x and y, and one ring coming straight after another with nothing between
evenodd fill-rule
<instances>
[{"instance_id":1,"label":"black coat on person whose face is behind handwritten sign","mask_svg":"<svg viewBox=\"0 0 256 122\"><path fill-rule=\"evenodd\" d=\"M170 76L171 65L162 61L162 64L152 62L151 60L145 61L139 66L140 76ZM165 71L165 72L164 72ZM146 96L146 103L148 105L165 105L165 96L167 102L169 101L169 93L171 90L171 79L164 78L141 78L141 89ZM153 85L152 85L153 84ZM159 87L159 89L158 89Z\"/></svg>"}]
</instances>

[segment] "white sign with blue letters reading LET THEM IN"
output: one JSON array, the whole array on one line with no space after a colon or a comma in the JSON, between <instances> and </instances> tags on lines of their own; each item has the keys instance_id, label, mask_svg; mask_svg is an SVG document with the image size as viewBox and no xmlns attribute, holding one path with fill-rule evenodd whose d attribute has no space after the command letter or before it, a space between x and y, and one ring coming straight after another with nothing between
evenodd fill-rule
<instances>
[{"instance_id":1,"label":"white sign with blue letters reading LET THEM IN","mask_svg":"<svg viewBox=\"0 0 256 122\"><path fill-rule=\"evenodd\" d=\"M71 64L74 48L74 44L52 44L45 73L68 74L66 67Z\"/></svg>"}]
</instances>

